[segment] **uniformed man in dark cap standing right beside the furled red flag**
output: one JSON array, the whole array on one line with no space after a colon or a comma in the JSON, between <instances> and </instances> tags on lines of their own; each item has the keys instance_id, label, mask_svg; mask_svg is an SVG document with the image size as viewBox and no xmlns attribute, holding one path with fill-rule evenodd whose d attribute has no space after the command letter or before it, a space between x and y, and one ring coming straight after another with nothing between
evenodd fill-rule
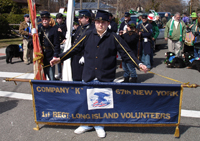
<instances>
[{"instance_id":1,"label":"uniformed man in dark cap standing right beside the furled red flag","mask_svg":"<svg viewBox=\"0 0 200 141\"><path fill-rule=\"evenodd\" d=\"M53 57L58 57L60 54L59 34L56 28L49 25L50 13L43 11L41 14L42 26L38 29L40 44L44 54L44 73L49 80L55 80L55 67L45 67L49 65L49 61Z\"/></svg>"}]
</instances>

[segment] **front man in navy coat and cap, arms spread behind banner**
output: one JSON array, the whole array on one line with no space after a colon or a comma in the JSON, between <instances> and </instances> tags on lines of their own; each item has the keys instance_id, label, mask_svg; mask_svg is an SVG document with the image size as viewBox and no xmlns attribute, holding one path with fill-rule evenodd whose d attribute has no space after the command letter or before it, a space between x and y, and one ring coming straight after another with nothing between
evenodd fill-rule
<instances>
[{"instance_id":1,"label":"front man in navy coat and cap, arms spread behind banner","mask_svg":"<svg viewBox=\"0 0 200 141\"><path fill-rule=\"evenodd\" d=\"M95 28L83 34L77 44L67 52L60 54L59 58L53 58L50 61L51 66L84 50L85 64L82 80L85 82L112 82L115 79L118 51L125 61L135 62L133 64L146 72L147 67L135 57L126 42L114 32L107 30L109 24L109 13L98 10L95 18ZM74 132L81 134L92 128L80 126ZM98 137L105 137L105 131L102 126L95 126L94 128Z\"/></svg>"}]
</instances>

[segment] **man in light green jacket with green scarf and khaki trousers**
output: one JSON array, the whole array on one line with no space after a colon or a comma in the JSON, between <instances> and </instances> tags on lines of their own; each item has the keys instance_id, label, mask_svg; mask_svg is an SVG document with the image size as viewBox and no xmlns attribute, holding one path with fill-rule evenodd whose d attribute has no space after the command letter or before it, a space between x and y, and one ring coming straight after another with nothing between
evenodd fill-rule
<instances>
[{"instance_id":1,"label":"man in light green jacket with green scarf and khaki trousers","mask_svg":"<svg viewBox=\"0 0 200 141\"><path fill-rule=\"evenodd\" d=\"M167 22L164 37L166 41L168 40L169 51L174 52L178 57L181 56L181 51L183 50L185 35L185 23L181 20L180 13L177 12L174 17Z\"/></svg>"}]
</instances>

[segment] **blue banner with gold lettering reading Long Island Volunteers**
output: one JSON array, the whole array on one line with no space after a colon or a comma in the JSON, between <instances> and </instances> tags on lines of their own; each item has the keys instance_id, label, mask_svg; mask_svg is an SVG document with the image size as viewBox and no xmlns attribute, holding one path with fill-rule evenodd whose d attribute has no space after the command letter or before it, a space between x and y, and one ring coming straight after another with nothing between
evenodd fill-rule
<instances>
[{"instance_id":1,"label":"blue banner with gold lettering reading Long Island Volunteers","mask_svg":"<svg viewBox=\"0 0 200 141\"><path fill-rule=\"evenodd\" d=\"M178 84L31 80L35 121L87 125L178 125Z\"/></svg>"}]
</instances>

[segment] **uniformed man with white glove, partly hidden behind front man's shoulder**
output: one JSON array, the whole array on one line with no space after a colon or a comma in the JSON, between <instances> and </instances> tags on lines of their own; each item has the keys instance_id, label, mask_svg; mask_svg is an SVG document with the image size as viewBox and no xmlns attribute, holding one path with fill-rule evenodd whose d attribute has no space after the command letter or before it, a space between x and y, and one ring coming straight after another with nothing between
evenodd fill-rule
<instances>
[{"instance_id":1,"label":"uniformed man with white glove, partly hidden behind front man's shoulder","mask_svg":"<svg viewBox=\"0 0 200 141\"><path fill-rule=\"evenodd\" d=\"M89 10L83 9L79 11L80 26L77 28L74 36L72 37L73 46L76 41L83 35L86 31L92 30L94 26L91 25L91 13ZM71 58L72 67L72 79L73 81L82 81L82 72L84 66L84 51L79 54L74 55Z\"/></svg>"}]
</instances>

